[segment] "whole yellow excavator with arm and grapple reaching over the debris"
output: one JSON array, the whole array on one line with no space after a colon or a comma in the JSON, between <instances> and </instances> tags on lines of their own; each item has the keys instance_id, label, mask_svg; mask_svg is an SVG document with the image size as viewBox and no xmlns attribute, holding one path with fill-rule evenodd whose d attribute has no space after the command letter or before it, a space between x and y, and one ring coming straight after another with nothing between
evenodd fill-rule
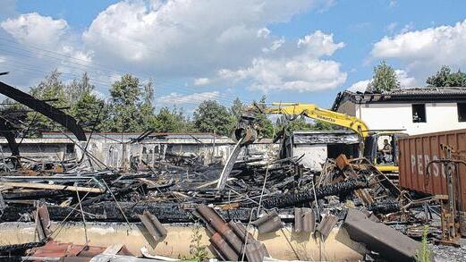
<instances>
[{"instance_id":1,"label":"whole yellow excavator with arm and grapple reaching over the debris","mask_svg":"<svg viewBox=\"0 0 466 262\"><path fill-rule=\"evenodd\" d=\"M360 156L368 158L376 165L380 172L398 172L398 159L396 159L398 155L397 139L407 136L407 134L401 131L371 131L368 125L357 117L323 109L312 104L272 103L272 106L256 106L256 108L265 114L303 115L311 119L350 129L360 137ZM238 125L238 129L235 131L237 139L244 136L247 137L247 139L245 139L247 141L255 139L257 131L252 124L254 118L255 116L253 114L244 114L241 117L241 122ZM390 147L387 148L390 148L391 152L379 150L379 147L384 147L384 144L379 142L383 141L382 139L389 142Z\"/></svg>"}]
</instances>

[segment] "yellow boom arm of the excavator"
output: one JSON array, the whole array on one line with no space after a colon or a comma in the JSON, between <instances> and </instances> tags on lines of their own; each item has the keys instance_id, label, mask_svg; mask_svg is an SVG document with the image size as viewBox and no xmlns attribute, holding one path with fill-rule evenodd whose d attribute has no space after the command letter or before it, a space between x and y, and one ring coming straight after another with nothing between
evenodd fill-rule
<instances>
[{"instance_id":1,"label":"yellow boom arm of the excavator","mask_svg":"<svg viewBox=\"0 0 466 262\"><path fill-rule=\"evenodd\" d=\"M304 115L306 117L317 119L325 123L333 123L355 131L360 138L364 139L369 136L369 128L366 123L357 117L336 113L327 109L320 108L312 104L300 103L273 103L265 109L267 114L287 114L287 115Z\"/></svg>"}]
</instances>

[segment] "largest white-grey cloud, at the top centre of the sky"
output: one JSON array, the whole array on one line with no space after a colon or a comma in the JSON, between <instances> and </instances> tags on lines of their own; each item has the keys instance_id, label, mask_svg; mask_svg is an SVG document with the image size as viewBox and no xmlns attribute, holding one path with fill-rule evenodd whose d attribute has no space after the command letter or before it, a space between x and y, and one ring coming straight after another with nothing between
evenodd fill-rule
<instances>
[{"instance_id":1,"label":"largest white-grey cloud, at the top centre of the sky","mask_svg":"<svg viewBox=\"0 0 466 262\"><path fill-rule=\"evenodd\" d=\"M158 75L204 76L250 63L279 39L267 25L334 2L123 1L99 13L83 40L98 60Z\"/></svg>"}]
</instances>

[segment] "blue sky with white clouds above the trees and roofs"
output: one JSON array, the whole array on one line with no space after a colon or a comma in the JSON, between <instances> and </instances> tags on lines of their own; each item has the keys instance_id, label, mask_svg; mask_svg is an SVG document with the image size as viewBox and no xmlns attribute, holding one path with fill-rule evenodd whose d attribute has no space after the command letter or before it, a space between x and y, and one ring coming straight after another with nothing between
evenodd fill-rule
<instances>
[{"instance_id":1,"label":"blue sky with white clouds above the trees and roofs","mask_svg":"<svg viewBox=\"0 0 466 262\"><path fill-rule=\"evenodd\" d=\"M155 81L156 105L190 111L308 102L362 89L385 59L403 87L466 67L465 1L14 1L0 11L1 80L23 89L58 68L97 92L124 72Z\"/></svg>"}]
</instances>

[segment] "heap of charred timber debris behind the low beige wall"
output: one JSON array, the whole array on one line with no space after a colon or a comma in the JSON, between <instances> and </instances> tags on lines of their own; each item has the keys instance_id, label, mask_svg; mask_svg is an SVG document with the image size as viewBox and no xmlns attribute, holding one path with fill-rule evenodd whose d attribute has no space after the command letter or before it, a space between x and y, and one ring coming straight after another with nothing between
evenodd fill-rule
<instances>
[{"instance_id":1,"label":"heap of charred timber debris behind the low beige wall","mask_svg":"<svg viewBox=\"0 0 466 262\"><path fill-rule=\"evenodd\" d=\"M82 217L76 210L68 215L78 203L88 221L112 222L138 221L136 214L145 209L167 223L192 222L191 212L186 211L192 211L199 204L229 210L231 219L241 221L250 219L250 209L254 207L279 208L286 213L294 207L317 208L320 204L322 209L331 207L335 201L352 201L356 207L376 214L400 209L395 200L400 192L391 191L377 180L382 173L354 170L352 164L344 170L334 165L334 170L318 176L300 165L299 157L264 160L237 161L225 190L216 190L222 165L165 163L138 172L3 175L0 182L5 206L0 219L32 220L28 214L35 209L36 201L47 204L51 218L57 221L65 217L80 221ZM374 200L384 194L389 197Z\"/></svg>"}]
</instances>

